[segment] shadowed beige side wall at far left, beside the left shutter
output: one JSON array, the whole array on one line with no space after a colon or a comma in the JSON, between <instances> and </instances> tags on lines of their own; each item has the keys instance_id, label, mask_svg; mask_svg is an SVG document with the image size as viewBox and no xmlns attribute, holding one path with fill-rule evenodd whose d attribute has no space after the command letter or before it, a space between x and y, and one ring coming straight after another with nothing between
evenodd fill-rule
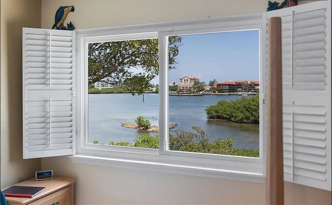
<instances>
[{"instance_id":1,"label":"shadowed beige side wall at far left, beside the left shutter","mask_svg":"<svg viewBox=\"0 0 332 205\"><path fill-rule=\"evenodd\" d=\"M22 27L40 19L40 0L1 1L1 188L40 169L40 159L22 159Z\"/></svg>"}]
</instances>

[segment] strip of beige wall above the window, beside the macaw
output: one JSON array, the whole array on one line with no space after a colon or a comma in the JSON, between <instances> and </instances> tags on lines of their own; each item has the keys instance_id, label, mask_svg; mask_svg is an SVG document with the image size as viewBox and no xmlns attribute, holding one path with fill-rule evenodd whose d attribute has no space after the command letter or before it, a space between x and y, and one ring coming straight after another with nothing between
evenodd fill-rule
<instances>
[{"instance_id":1,"label":"strip of beige wall above the window, beside the macaw","mask_svg":"<svg viewBox=\"0 0 332 205\"><path fill-rule=\"evenodd\" d=\"M274 1L274 0L273 0ZM282 2L283 0L277 0ZM76 29L151 24L264 12L268 0L42 0L42 28L52 28L59 6L75 6L68 14ZM302 1L300 4L313 1Z\"/></svg>"}]
</instances>

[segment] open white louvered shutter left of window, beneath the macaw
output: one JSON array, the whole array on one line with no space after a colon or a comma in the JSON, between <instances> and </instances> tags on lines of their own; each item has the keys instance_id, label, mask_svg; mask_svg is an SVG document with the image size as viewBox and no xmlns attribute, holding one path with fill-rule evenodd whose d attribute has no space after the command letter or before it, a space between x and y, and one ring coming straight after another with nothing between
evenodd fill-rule
<instances>
[{"instance_id":1,"label":"open white louvered shutter left of window, beneath the macaw","mask_svg":"<svg viewBox=\"0 0 332 205\"><path fill-rule=\"evenodd\" d=\"M23 28L23 158L75 154L75 32Z\"/></svg>"}]
</instances>

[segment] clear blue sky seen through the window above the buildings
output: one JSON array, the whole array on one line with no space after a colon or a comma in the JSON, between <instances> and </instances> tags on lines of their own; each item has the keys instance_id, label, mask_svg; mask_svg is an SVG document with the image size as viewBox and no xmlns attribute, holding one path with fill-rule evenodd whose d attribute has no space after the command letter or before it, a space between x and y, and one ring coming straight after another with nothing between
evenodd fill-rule
<instances>
[{"instance_id":1,"label":"clear blue sky seen through the window above the buildings","mask_svg":"<svg viewBox=\"0 0 332 205\"><path fill-rule=\"evenodd\" d=\"M233 31L182 35L176 69L169 83L195 76L208 83L228 80L259 80L259 31ZM138 71L136 71L138 72ZM159 84L156 77L152 83Z\"/></svg>"}]
</instances>

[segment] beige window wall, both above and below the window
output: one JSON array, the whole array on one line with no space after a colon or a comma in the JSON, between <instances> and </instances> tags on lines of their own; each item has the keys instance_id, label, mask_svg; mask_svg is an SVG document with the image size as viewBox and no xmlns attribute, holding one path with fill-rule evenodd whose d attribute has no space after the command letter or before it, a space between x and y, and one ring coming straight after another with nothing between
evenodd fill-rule
<instances>
[{"instance_id":1,"label":"beige window wall, both above and below the window","mask_svg":"<svg viewBox=\"0 0 332 205\"><path fill-rule=\"evenodd\" d=\"M267 0L42 0L42 28L51 28L65 5L75 6L67 20L88 29L258 13L266 11ZM41 164L78 179L76 204L265 204L264 184L80 165L67 157ZM331 192L289 183L285 191L287 204L331 203Z\"/></svg>"}]
</instances>

